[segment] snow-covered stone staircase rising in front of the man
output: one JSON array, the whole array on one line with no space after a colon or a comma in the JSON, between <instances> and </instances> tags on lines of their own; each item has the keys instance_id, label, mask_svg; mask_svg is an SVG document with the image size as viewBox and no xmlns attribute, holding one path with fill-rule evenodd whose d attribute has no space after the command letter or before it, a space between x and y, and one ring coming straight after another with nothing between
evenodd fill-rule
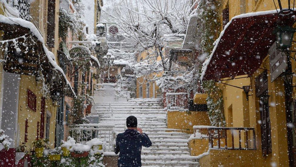
<instances>
[{"instance_id":1,"label":"snow-covered stone staircase rising in front of the man","mask_svg":"<svg viewBox=\"0 0 296 167\"><path fill-rule=\"evenodd\" d=\"M119 133L124 132L128 116L137 117L138 127L152 141L150 148L142 148L142 166L199 166L197 157L190 156L187 144L190 134L167 128L166 111L160 103L160 99L99 103L92 115L99 115L99 124L114 124Z\"/></svg>"}]
</instances>

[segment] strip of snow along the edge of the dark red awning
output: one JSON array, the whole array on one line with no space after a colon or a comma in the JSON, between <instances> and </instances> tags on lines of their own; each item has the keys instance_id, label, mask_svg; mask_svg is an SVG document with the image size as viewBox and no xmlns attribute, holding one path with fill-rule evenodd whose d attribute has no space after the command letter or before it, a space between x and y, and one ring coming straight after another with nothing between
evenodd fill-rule
<instances>
[{"instance_id":1,"label":"strip of snow along the edge of the dark red awning","mask_svg":"<svg viewBox=\"0 0 296 167\"><path fill-rule=\"evenodd\" d=\"M294 9L295 10L295 9ZM251 13L245 13L245 14L241 14L241 15L237 15L237 16L234 16L224 27L224 30L221 31L220 33L220 36L219 38L215 41L215 46L212 50L212 53L210 54L210 57L203 63L203 67L201 69L202 73L201 73L201 77L200 77L200 80L203 80L204 78L204 75L207 71L207 66L209 65L212 57L213 57L213 54L215 53L215 50L217 49L217 46L222 38L222 36L224 35L224 32L225 30L227 29L227 27L232 23L232 21L234 19L239 19L239 18L245 18L245 17L251 17L251 16L261 16L261 15L267 15L267 14L274 14L274 13L277 13L279 12L280 10L268 10L268 11L261 11L261 12L251 12Z\"/></svg>"}]
</instances>

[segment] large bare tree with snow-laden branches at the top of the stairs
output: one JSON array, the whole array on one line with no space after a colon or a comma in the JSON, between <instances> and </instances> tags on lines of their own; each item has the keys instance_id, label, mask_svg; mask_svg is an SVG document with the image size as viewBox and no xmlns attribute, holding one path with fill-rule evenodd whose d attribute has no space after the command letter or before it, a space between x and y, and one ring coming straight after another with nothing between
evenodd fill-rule
<instances>
[{"instance_id":1,"label":"large bare tree with snow-laden branches at the top of the stairs","mask_svg":"<svg viewBox=\"0 0 296 167\"><path fill-rule=\"evenodd\" d=\"M124 46L133 48L130 53L148 52L147 58L134 64L136 71L145 74L170 71L169 56L164 54L166 40L185 37L197 3L198 0L123 0L120 6L113 3L113 13L104 12L108 14L105 19L115 22L121 35L129 41Z\"/></svg>"}]
</instances>

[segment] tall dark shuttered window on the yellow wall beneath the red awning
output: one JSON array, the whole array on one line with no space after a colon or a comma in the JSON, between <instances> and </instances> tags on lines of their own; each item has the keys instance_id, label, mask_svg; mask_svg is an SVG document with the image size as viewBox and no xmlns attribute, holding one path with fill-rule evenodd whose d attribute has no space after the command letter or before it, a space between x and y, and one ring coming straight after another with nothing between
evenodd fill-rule
<instances>
[{"instance_id":1,"label":"tall dark shuttered window on the yellow wall beneath the red awning","mask_svg":"<svg viewBox=\"0 0 296 167\"><path fill-rule=\"evenodd\" d=\"M268 95L267 71L256 78L256 96L259 98L260 131L262 155L271 153L271 126L269 106L263 103L262 97Z\"/></svg>"}]
</instances>

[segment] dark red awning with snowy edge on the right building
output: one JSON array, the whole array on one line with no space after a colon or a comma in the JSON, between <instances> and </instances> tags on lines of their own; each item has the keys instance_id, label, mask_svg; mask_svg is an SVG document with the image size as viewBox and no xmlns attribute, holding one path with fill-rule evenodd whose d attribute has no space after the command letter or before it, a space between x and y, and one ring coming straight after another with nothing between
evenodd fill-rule
<instances>
[{"instance_id":1,"label":"dark red awning with snowy edge on the right building","mask_svg":"<svg viewBox=\"0 0 296 167\"><path fill-rule=\"evenodd\" d=\"M220 33L202 69L202 80L251 75L275 42L277 24L292 26L296 12L278 14L276 10L246 13L233 17Z\"/></svg>"}]
</instances>

